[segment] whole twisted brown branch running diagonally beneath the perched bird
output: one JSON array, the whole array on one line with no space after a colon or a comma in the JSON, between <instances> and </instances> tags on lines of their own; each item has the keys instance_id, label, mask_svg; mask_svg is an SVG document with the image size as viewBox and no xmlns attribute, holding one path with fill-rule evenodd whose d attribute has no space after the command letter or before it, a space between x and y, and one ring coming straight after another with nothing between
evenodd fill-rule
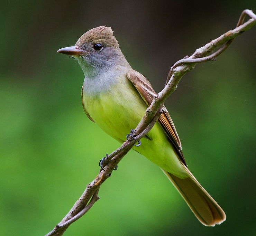
<instances>
[{"instance_id":1,"label":"whole twisted brown branch running diagonally beneath the perched bird","mask_svg":"<svg viewBox=\"0 0 256 236\"><path fill-rule=\"evenodd\" d=\"M252 19L249 19L243 24L244 19L247 15ZM106 166L104 166L104 170L100 170L98 176L86 186L84 193L76 201L75 205L72 207L69 213L46 236L63 235L68 226L80 217L82 217L99 199L98 192L101 184L111 176L114 168L133 147L133 145L138 140L143 138L154 126L154 124L157 122L158 117L161 115L164 101L168 96L170 96L171 93L175 91L175 89L177 88L177 84L180 82L181 78L190 70L192 70L197 63L214 60L215 57L220 55L224 50L228 48L228 46L232 43L235 37L250 29L254 25L256 25L256 15L251 10L244 10L241 13L237 26L234 30L229 30L228 32L221 35L217 39L212 40L205 46L196 49L193 55L179 60L172 66L167 76L166 86L161 92L157 94L157 97L154 98L153 102L147 108L145 115L134 130L135 138L130 141L126 140L120 148L108 155L108 163L106 164ZM221 45L223 46L219 50L212 53Z\"/></svg>"}]
</instances>

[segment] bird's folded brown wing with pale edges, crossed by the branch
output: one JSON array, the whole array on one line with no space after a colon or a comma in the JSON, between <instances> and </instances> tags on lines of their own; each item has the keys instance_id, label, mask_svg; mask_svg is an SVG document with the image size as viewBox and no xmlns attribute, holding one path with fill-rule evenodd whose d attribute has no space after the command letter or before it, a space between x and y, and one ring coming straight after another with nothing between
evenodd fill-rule
<instances>
[{"instance_id":1,"label":"bird's folded brown wing with pale edges, crossed by the branch","mask_svg":"<svg viewBox=\"0 0 256 236\"><path fill-rule=\"evenodd\" d=\"M127 78L132 82L140 96L143 98L145 103L149 106L157 93L154 91L152 85L149 81L141 75L136 70L129 70L127 73ZM169 115L165 106L163 106L162 114L158 118L159 124L162 126L163 130L167 134L171 143L174 145L176 151L179 154L180 160L186 164L184 156L181 152L181 141L172 122L171 116Z\"/></svg>"}]
</instances>

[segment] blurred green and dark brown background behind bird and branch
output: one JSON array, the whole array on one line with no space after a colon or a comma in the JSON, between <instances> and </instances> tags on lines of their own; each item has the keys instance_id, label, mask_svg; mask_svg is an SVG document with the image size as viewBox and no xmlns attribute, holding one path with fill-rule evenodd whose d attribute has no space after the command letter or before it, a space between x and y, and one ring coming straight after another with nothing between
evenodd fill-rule
<instances>
[{"instance_id":1,"label":"blurred green and dark brown background behind bird and branch","mask_svg":"<svg viewBox=\"0 0 256 236\"><path fill-rule=\"evenodd\" d=\"M79 65L59 48L112 27L159 92L170 67L236 26L245 1L1 1L0 234L45 235L119 144L84 114ZM205 227L162 171L131 151L65 235L256 235L256 27L185 75L166 106L189 169L225 210ZM132 128L132 127L131 127Z\"/></svg>"}]
</instances>

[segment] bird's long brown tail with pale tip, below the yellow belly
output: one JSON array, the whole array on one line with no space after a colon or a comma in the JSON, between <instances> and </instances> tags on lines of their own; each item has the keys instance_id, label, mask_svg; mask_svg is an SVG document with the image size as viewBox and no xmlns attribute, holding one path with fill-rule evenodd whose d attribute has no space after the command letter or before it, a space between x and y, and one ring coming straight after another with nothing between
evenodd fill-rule
<instances>
[{"instance_id":1,"label":"bird's long brown tail with pale tip, below the yellow belly","mask_svg":"<svg viewBox=\"0 0 256 236\"><path fill-rule=\"evenodd\" d=\"M184 168L189 176L185 179L180 179L175 175L162 170L203 225L215 226L215 224L221 224L226 220L225 212L209 193L205 191L185 165Z\"/></svg>"}]
</instances>

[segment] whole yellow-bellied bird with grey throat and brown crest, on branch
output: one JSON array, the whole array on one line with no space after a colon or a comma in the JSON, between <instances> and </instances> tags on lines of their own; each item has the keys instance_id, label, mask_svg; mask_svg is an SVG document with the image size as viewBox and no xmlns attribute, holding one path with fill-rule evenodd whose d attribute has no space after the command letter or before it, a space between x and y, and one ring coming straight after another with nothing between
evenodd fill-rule
<instances>
[{"instance_id":1,"label":"whole yellow-bellied bird with grey throat and brown crest, on branch","mask_svg":"<svg viewBox=\"0 0 256 236\"><path fill-rule=\"evenodd\" d=\"M131 68L111 28L93 28L75 46L57 52L73 56L84 72L82 104L86 115L111 137L124 142L157 94L148 80ZM187 168L179 136L165 107L140 147L134 149L163 170L203 225L214 226L226 219L221 207Z\"/></svg>"}]
</instances>

